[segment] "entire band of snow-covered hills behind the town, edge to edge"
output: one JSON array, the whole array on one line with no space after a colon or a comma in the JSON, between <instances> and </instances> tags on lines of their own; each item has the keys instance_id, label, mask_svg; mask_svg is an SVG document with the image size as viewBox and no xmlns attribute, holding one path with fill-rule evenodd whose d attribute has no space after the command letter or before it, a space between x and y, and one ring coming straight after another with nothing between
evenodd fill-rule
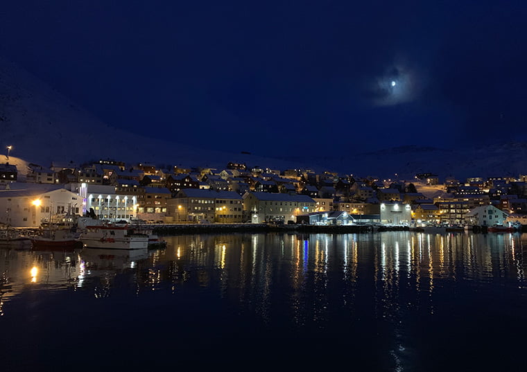
<instances>
[{"instance_id":1,"label":"entire band of snow-covered hills behind the town, edge to edge","mask_svg":"<svg viewBox=\"0 0 527 372\"><path fill-rule=\"evenodd\" d=\"M333 157L334 149L325 146L306 149L306 155L302 157L281 158L279 154L257 157L211 151L200 149L193 143L150 139L146 135L148 125L145 136L117 130L24 69L0 58L0 146L5 149L5 146L12 145L13 157L44 166L51 161L112 158L128 163L214 168L224 168L228 161L244 161L248 166L311 168L399 179L413 179L416 173L422 172L460 179L527 173L526 143L453 149L412 145L368 153L349 152L340 157ZM447 135L447 132L442 133L442 136ZM423 141L433 143L434 139Z\"/></svg>"}]
</instances>

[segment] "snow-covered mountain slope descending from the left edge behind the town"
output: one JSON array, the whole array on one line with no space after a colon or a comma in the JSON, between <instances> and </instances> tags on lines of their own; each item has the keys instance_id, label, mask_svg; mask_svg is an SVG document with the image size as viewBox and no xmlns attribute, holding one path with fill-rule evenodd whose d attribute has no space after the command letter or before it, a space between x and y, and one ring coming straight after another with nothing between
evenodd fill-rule
<instances>
[{"instance_id":1,"label":"snow-covered mountain slope descending from the left edge behind the town","mask_svg":"<svg viewBox=\"0 0 527 372\"><path fill-rule=\"evenodd\" d=\"M229 161L261 167L307 166L301 161L204 150L192 143L183 145L147 135L148 125L145 136L139 136L103 123L28 71L0 58L0 146L6 149L12 145L13 157L44 166L51 161L107 158L214 168L224 168Z\"/></svg>"}]
</instances>

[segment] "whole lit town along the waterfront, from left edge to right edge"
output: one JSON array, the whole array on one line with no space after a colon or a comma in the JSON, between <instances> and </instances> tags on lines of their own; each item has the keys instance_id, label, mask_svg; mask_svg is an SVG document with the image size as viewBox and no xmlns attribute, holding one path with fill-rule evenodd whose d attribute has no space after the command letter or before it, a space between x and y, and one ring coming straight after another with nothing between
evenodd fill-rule
<instances>
[{"instance_id":1,"label":"whole lit town along the waterfront, from left edge to right edge","mask_svg":"<svg viewBox=\"0 0 527 372\"><path fill-rule=\"evenodd\" d=\"M10 150L11 146L8 146ZM0 225L37 228L75 216L137 224L374 225L408 229L527 226L527 175L411 180L232 161L225 168L101 159L25 172L0 163ZM493 230L494 229L494 230Z\"/></svg>"}]
</instances>

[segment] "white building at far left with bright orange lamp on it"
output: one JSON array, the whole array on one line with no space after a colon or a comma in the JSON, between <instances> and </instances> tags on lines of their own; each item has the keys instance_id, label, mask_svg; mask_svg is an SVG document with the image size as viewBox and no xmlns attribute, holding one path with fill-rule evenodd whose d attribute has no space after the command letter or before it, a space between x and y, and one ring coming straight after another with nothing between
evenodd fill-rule
<instances>
[{"instance_id":1,"label":"white building at far left with bright orange lamp on it","mask_svg":"<svg viewBox=\"0 0 527 372\"><path fill-rule=\"evenodd\" d=\"M0 190L0 223L12 227L40 227L79 214L82 200L62 185L12 184Z\"/></svg>"}]
</instances>

